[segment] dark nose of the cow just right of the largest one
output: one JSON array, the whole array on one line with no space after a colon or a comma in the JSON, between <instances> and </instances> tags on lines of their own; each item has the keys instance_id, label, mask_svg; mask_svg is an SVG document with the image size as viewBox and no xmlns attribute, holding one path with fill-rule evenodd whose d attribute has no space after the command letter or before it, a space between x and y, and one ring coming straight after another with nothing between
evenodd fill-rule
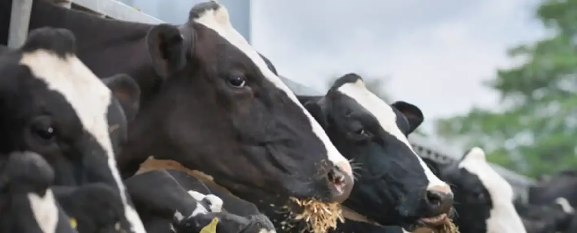
<instances>
[{"instance_id":1,"label":"dark nose of the cow just right of the largest one","mask_svg":"<svg viewBox=\"0 0 577 233\"><path fill-rule=\"evenodd\" d=\"M453 207L451 188L448 185L430 186L425 195L425 203L430 216L449 213Z\"/></svg>"}]
</instances>

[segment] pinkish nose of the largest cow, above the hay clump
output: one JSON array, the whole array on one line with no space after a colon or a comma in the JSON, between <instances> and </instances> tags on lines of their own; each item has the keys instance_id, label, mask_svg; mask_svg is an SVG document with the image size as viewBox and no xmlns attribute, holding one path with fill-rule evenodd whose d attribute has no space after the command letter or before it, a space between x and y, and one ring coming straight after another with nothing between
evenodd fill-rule
<instances>
[{"instance_id":1,"label":"pinkish nose of the largest cow, above the hay clump","mask_svg":"<svg viewBox=\"0 0 577 233\"><path fill-rule=\"evenodd\" d=\"M332 201L342 203L349 198L354 184L349 163L332 167L328 172L328 180L332 188Z\"/></svg>"}]
</instances>

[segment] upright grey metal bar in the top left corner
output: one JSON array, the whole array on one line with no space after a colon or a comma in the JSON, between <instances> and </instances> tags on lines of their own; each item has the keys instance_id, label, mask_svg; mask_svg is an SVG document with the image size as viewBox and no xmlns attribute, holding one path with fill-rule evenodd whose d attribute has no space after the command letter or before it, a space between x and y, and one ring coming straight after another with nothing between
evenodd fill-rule
<instances>
[{"instance_id":1,"label":"upright grey metal bar in the top left corner","mask_svg":"<svg viewBox=\"0 0 577 233\"><path fill-rule=\"evenodd\" d=\"M28 36L28 24L30 22L30 12L32 10L32 0L12 1L12 12L10 13L10 32L8 35L8 46L11 48L20 47Z\"/></svg>"}]
</instances>

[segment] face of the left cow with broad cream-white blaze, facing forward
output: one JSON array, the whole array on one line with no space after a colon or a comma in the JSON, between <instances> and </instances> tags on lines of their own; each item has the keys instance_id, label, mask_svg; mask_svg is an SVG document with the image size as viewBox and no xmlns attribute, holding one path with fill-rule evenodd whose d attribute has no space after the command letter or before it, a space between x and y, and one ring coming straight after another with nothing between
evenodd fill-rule
<instances>
[{"instance_id":1,"label":"face of the left cow with broad cream-white blaze, facing forward","mask_svg":"<svg viewBox=\"0 0 577 233\"><path fill-rule=\"evenodd\" d=\"M55 185L114 186L126 220L143 232L114 158L126 137L125 116L136 111L137 102L131 100L138 100L138 86L117 75L106 79L111 91L78 60L75 49L68 30L39 28L20 49L2 52L0 153L44 156L54 167Z\"/></svg>"}]
</instances>

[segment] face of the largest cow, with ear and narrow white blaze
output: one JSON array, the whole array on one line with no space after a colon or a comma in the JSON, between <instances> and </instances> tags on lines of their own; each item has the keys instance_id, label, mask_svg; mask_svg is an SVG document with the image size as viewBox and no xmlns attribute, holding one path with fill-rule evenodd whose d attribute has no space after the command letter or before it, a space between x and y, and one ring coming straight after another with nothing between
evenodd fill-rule
<instances>
[{"instance_id":1,"label":"face of the largest cow, with ear and narrow white blaze","mask_svg":"<svg viewBox=\"0 0 577 233\"><path fill-rule=\"evenodd\" d=\"M184 25L155 26L148 45L164 80L131 123L125 157L173 159L252 201L349 196L349 162L223 6L202 3Z\"/></svg>"}]
</instances>

